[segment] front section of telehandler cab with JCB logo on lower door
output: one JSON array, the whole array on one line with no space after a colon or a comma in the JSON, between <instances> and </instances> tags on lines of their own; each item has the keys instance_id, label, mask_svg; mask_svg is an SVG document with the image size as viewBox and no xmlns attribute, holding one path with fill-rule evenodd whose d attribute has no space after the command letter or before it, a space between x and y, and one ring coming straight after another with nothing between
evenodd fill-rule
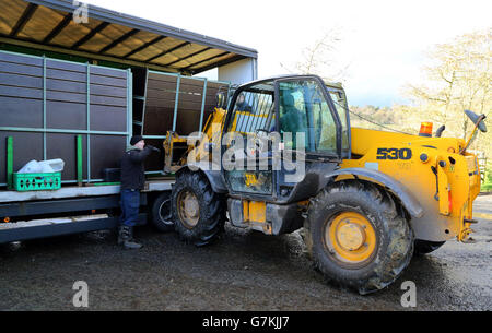
<instances>
[{"instance_id":1,"label":"front section of telehandler cab with JCB logo on lower door","mask_svg":"<svg viewBox=\"0 0 492 333\"><path fill-rule=\"evenodd\" d=\"M222 169L232 195L266 201L276 197L272 150L276 130L274 81L239 87L230 105L222 136Z\"/></svg>"}]
</instances>

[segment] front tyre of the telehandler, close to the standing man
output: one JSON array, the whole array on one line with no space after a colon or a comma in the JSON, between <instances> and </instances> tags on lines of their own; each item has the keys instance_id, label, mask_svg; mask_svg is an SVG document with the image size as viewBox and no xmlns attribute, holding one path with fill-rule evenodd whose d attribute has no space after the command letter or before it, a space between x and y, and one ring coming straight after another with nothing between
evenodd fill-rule
<instances>
[{"instance_id":1,"label":"front tyre of the telehandler, close to the standing man","mask_svg":"<svg viewBox=\"0 0 492 333\"><path fill-rule=\"evenodd\" d=\"M196 198L198 214L196 222L189 223L183 213L183 195ZM224 230L225 198L215 193L207 177L198 171L185 171L177 176L172 192L173 221L175 230L186 242L198 247L215 240Z\"/></svg>"}]
</instances>

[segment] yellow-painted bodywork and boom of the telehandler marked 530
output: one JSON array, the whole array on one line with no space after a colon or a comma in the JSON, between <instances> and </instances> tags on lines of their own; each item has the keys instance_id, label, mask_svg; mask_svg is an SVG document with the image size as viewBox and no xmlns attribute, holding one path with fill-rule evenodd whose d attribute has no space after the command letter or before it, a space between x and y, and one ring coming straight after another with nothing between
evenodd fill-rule
<instances>
[{"instance_id":1,"label":"yellow-painted bodywork and boom of the telehandler marked 530","mask_svg":"<svg viewBox=\"0 0 492 333\"><path fill-rule=\"evenodd\" d=\"M187 139L168 132L164 142L166 171L180 169L190 155L194 160L209 160L210 146L220 145L225 115L224 109L215 108L204 127L206 140L189 145L180 158L174 156L175 146L185 144ZM411 219L415 238L429 241L445 241L453 237L460 241L467 239L471 233L472 202L480 191L480 173L475 155L460 154L466 146L464 140L358 128L351 129L351 138L352 158L344 159L341 168L377 169L413 193L425 212L422 217ZM353 176L339 176L337 180L347 178ZM245 212L248 216L265 214L256 212L257 209L263 206L255 204Z\"/></svg>"}]
</instances>

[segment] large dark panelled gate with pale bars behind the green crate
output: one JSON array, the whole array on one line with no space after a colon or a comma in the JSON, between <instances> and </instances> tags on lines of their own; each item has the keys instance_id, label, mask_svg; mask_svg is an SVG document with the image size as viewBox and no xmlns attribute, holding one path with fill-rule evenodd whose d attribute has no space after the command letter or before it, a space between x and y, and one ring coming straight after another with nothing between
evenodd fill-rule
<instances>
[{"instance_id":1,"label":"large dark panelled gate with pale bars behind the green crate","mask_svg":"<svg viewBox=\"0 0 492 333\"><path fill-rule=\"evenodd\" d=\"M131 75L130 70L0 51L0 156L11 136L13 171L32 159L61 158L62 183L102 181L103 169L117 167L131 135ZM1 167L0 186L5 185Z\"/></svg>"}]
</instances>

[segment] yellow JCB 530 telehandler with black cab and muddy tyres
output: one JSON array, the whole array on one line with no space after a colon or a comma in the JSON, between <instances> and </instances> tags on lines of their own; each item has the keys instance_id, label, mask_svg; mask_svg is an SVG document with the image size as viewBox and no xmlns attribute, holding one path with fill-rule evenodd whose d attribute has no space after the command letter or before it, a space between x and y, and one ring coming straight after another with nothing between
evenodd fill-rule
<instances>
[{"instance_id":1,"label":"yellow JCB 530 telehandler with black cab and muddy tyres","mask_svg":"<svg viewBox=\"0 0 492 333\"><path fill-rule=\"evenodd\" d=\"M267 235L303 235L316 266L361 294L384 288L446 240L469 236L479 193L467 142L350 127L340 84L316 75L250 82L219 94L204 133L169 132L165 170L176 175L172 223L196 246L224 223ZM191 139L192 138L192 139ZM266 253L268 255L268 253Z\"/></svg>"}]
</instances>

